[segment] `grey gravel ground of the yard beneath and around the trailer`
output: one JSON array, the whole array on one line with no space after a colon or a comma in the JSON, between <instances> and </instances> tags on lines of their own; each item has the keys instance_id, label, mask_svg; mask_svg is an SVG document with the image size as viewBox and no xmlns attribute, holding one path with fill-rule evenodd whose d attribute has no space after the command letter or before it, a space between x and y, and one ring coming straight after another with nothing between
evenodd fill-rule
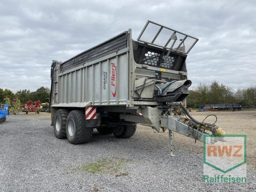
<instances>
[{"instance_id":1,"label":"grey gravel ground of the yard beneath and around the trailer","mask_svg":"<svg viewBox=\"0 0 256 192\"><path fill-rule=\"evenodd\" d=\"M11 115L0 124L0 191L256 191L250 168L247 183L204 183L202 144L176 135L169 157L167 132L138 125L131 138L117 139L94 131L91 143L72 145L55 138L49 114ZM104 158L124 161L105 172L82 168Z\"/></svg>"}]
</instances>

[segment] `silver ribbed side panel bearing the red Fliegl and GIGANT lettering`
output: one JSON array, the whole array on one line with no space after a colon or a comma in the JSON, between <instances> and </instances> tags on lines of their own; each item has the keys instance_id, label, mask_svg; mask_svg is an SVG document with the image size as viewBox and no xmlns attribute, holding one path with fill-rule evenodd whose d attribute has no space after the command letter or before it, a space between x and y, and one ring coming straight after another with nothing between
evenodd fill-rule
<instances>
[{"instance_id":1,"label":"silver ribbed side panel bearing the red Fliegl and GIGANT lettering","mask_svg":"<svg viewBox=\"0 0 256 192\"><path fill-rule=\"evenodd\" d=\"M129 51L59 75L58 103L126 105L129 100Z\"/></svg>"}]
</instances>

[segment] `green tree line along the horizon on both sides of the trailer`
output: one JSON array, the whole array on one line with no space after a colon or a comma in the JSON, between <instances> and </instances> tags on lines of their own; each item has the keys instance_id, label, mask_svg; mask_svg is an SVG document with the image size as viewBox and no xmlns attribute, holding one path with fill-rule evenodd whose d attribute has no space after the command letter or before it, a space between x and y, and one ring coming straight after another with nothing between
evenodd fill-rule
<instances>
[{"instance_id":1,"label":"green tree line along the horizon on both sides of the trailer","mask_svg":"<svg viewBox=\"0 0 256 192\"><path fill-rule=\"evenodd\" d=\"M30 92L28 89L19 90L13 93L9 89L0 88L0 103L3 103L5 98L19 99L21 105L24 105L27 100L40 100L42 103L49 102L50 89L40 87L35 92ZM189 90L187 97L187 107L197 107L200 104L240 104L242 106L256 105L256 87L253 85L247 88L238 89L224 84L219 84L213 81L211 84L200 83L195 88Z\"/></svg>"}]
</instances>

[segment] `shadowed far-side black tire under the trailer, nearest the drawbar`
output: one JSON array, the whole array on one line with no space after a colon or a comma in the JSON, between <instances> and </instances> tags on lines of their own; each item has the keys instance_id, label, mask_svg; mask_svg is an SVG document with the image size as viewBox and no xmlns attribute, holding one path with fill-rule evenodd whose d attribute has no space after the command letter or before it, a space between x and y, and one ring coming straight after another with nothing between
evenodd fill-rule
<instances>
[{"instance_id":1,"label":"shadowed far-side black tire under the trailer, nearest the drawbar","mask_svg":"<svg viewBox=\"0 0 256 192\"><path fill-rule=\"evenodd\" d=\"M129 138L136 132L136 124L125 121L121 125L113 127L112 131L117 138Z\"/></svg>"}]
</instances>

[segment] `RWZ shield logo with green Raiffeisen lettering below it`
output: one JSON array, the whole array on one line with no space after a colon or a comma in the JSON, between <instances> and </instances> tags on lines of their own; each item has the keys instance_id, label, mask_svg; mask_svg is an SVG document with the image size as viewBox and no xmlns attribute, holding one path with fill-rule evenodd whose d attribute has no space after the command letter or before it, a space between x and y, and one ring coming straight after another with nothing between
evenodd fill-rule
<instances>
[{"instance_id":1,"label":"RWZ shield logo with green Raiffeisen lettering below it","mask_svg":"<svg viewBox=\"0 0 256 192\"><path fill-rule=\"evenodd\" d=\"M203 181L246 182L246 135L225 135L226 142L213 142L214 137L204 135Z\"/></svg>"}]
</instances>

